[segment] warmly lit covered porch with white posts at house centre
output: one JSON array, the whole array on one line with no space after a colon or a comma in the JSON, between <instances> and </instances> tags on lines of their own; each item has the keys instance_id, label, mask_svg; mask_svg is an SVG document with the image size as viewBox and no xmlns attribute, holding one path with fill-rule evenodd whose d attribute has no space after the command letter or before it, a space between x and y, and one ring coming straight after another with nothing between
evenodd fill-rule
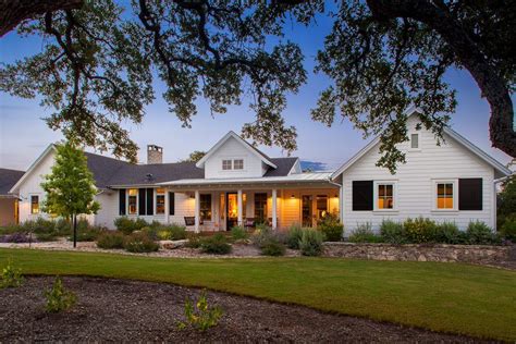
<instances>
[{"instance_id":1,"label":"warmly lit covered porch with white posts at house centre","mask_svg":"<svg viewBox=\"0 0 516 344\"><path fill-rule=\"evenodd\" d=\"M230 231L266 223L273 229L293 224L316 226L328 213L340 214L341 188L314 173L303 181L256 183L207 180L163 183L165 208L173 201L173 214L165 222L184 223L188 230Z\"/></svg>"}]
</instances>

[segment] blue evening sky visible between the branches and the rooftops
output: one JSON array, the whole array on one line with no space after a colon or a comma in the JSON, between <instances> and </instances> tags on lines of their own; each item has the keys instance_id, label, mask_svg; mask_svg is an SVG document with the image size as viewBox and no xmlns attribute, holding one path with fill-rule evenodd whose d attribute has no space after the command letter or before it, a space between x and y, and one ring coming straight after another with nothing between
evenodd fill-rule
<instances>
[{"instance_id":1,"label":"blue evening sky visible between the branches and the rooftops","mask_svg":"<svg viewBox=\"0 0 516 344\"><path fill-rule=\"evenodd\" d=\"M314 58L322 47L324 34L330 30L330 26L331 22L321 17L315 27L305 28L290 24L285 38L303 48L309 77L297 95L288 97L284 116L288 125L297 128L298 149L293 156L321 162L329 169L334 169L371 138L365 139L346 120L328 128L310 119L309 112L315 107L319 93L330 83L324 75L312 73ZM0 61L10 63L41 49L42 41L39 38L22 38L16 33L10 33L0 39ZM501 162L507 163L511 158L491 147L489 105L480 98L480 91L472 78L465 71L450 70L446 79L457 89L458 106L452 115L452 127ZM193 150L209 149L228 131L239 133L244 123L254 120L254 113L245 101L241 107L230 108L225 114L211 118L206 102L199 99L198 115L194 118L192 128L183 128L160 98L163 84L156 82L155 86L157 99L146 108L143 123L123 123L140 147L138 158L142 162L146 160L145 147L148 144L162 146L164 161L173 162L186 158ZM59 132L51 131L41 120L50 113L51 109L39 107L37 99L21 99L0 93L0 168L25 170L47 145L62 138ZM278 147L259 148L272 157L285 155Z\"/></svg>"}]
</instances>

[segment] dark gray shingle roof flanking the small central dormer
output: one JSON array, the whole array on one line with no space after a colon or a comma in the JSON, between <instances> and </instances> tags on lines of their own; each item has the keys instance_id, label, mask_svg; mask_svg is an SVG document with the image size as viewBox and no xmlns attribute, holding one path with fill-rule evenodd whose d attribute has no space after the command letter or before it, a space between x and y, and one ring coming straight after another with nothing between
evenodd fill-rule
<instances>
[{"instance_id":1,"label":"dark gray shingle roof flanking the small central dormer","mask_svg":"<svg viewBox=\"0 0 516 344\"><path fill-rule=\"evenodd\" d=\"M185 179L204 179L205 170L195 162L134 164L113 158L86 152L88 168L94 174L97 187L116 185L151 185ZM287 175L297 158L270 159L278 169L270 169L265 177ZM148 175L151 175L149 179Z\"/></svg>"}]
</instances>

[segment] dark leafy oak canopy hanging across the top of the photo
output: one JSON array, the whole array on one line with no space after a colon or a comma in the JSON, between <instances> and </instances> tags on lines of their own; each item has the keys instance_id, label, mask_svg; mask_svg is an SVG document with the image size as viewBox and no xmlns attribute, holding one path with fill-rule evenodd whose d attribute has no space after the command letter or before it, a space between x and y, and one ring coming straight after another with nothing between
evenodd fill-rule
<instances>
[{"instance_id":1,"label":"dark leafy oak canopy hanging across the top of the photo","mask_svg":"<svg viewBox=\"0 0 516 344\"><path fill-rule=\"evenodd\" d=\"M123 9L111 0L36 0L20 9L0 7L0 35L22 22L21 34L45 37L41 53L0 70L0 89L41 96L44 106L56 109L47 119L50 127L133 161L137 147L120 121L142 121L155 98L155 78L167 84L161 96L184 126L197 113L199 97L216 114L249 96L256 119L243 135L291 151L296 131L282 111L286 95L307 76L303 52L283 38L284 27L291 21L315 25L323 15L333 27L316 71L332 84L321 90L314 120L332 125L344 116L365 135L380 134L379 164L394 171L405 159L396 149L407 139L405 110L422 109L423 125L442 138L456 106L443 75L450 67L465 69L491 106L493 145L516 156L515 1L342 0L331 10L325 4L134 0Z\"/></svg>"}]
</instances>

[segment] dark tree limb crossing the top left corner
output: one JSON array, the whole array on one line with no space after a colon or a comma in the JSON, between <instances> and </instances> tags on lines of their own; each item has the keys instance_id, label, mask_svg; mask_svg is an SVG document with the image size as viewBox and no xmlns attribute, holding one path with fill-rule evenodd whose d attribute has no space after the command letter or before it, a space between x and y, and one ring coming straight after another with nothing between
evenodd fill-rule
<instances>
[{"instance_id":1,"label":"dark tree limb crossing the top left corner","mask_svg":"<svg viewBox=\"0 0 516 344\"><path fill-rule=\"evenodd\" d=\"M0 37L14 29L25 20L46 12L75 10L84 0L0 0Z\"/></svg>"}]
</instances>

